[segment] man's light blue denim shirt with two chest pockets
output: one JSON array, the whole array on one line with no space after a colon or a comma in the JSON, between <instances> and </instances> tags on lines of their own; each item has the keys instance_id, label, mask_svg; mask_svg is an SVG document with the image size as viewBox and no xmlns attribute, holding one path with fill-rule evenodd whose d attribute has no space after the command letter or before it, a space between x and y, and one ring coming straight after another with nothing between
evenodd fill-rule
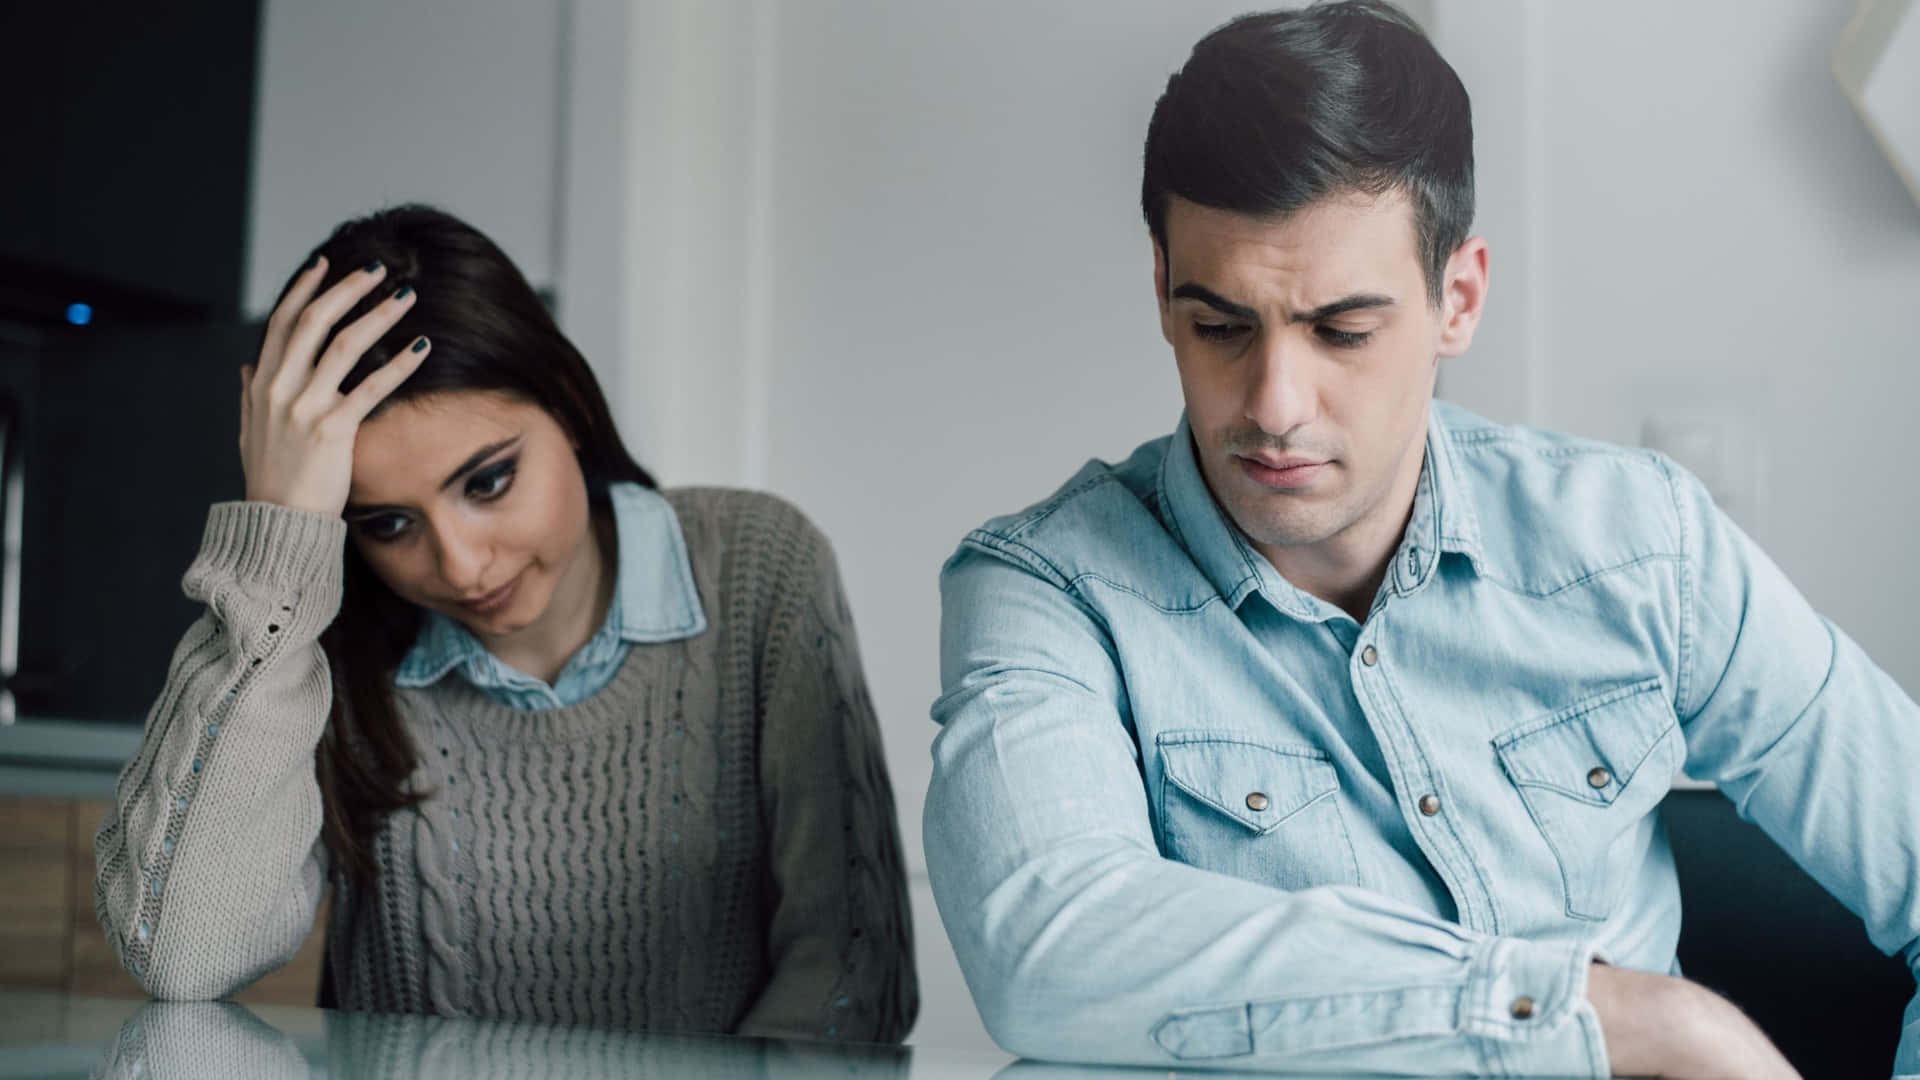
<instances>
[{"instance_id":1,"label":"man's light blue denim shirt with two chest pockets","mask_svg":"<svg viewBox=\"0 0 1920 1080\"><path fill-rule=\"evenodd\" d=\"M1436 402L1356 623L1183 421L970 532L941 598L927 869L1014 1053L1609 1076L1588 965L1678 970L1682 771L1920 951L1920 709L1657 454Z\"/></svg>"}]
</instances>

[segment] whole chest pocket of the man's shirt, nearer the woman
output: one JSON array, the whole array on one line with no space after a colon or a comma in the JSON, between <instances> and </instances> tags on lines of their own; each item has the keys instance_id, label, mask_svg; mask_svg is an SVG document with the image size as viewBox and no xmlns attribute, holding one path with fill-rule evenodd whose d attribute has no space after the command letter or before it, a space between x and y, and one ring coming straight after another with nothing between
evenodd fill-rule
<instances>
[{"instance_id":1,"label":"whole chest pocket of the man's shirt, nearer the woman","mask_svg":"<svg viewBox=\"0 0 1920 1080\"><path fill-rule=\"evenodd\" d=\"M1156 746L1165 857L1284 890L1359 884L1325 753L1192 730Z\"/></svg>"}]
</instances>

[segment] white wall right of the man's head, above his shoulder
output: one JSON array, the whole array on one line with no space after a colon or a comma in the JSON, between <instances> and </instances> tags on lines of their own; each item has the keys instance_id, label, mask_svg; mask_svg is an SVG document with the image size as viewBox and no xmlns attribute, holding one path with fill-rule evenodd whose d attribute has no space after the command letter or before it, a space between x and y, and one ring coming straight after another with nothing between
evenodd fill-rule
<instances>
[{"instance_id":1,"label":"white wall right of the man's head, above his shoulder","mask_svg":"<svg viewBox=\"0 0 1920 1080\"><path fill-rule=\"evenodd\" d=\"M1853 0L1438 8L1496 267L1455 394L1490 373L1505 419L1615 442L1726 427L1734 517L1920 692L1920 206L1828 71Z\"/></svg>"}]
</instances>

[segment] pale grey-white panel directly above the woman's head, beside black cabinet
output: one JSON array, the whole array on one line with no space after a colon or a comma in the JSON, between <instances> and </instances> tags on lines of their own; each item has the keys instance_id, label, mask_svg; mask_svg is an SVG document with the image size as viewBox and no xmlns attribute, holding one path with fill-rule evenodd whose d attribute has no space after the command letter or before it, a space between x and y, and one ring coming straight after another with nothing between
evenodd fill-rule
<instances>
[{"instance_id":1,"label":"pale grey-white panel directly above the woman's head, beside black cabinet","mask_svg":"<svg viewBox=\"0 0 1920 1080\"><path fill-rule=\"evenodd\" d=\"M555 284L566 0L267 0L244 309L334 225L424 200Z\"/></svg>"}]
</instances>

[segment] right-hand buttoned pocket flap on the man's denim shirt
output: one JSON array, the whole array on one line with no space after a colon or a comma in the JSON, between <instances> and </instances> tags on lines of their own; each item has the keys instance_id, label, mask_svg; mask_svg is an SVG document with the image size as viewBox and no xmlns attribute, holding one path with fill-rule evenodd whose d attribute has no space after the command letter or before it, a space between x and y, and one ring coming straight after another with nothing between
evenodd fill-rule
<instances>
[{"instance_id":1,"label":"right-hand buttoned pocket flap on the man's denim shirt","mask_svg":"<svg viewBox=\"0 0 1920 1080\"><path fill-rule=\"evenodd\" d=\"M1661 680L1649 678L1505 732L1494 749L1515 784L1611 805L1676 723Z\"/></svg>"}]
</instances>

